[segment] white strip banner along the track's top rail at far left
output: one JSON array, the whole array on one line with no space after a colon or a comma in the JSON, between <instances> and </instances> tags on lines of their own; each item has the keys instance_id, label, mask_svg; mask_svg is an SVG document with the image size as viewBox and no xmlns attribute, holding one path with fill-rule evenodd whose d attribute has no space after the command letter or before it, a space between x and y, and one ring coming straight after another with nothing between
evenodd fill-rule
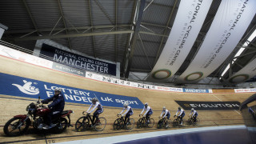
<instances>
[{"instance_id":1,"label":"white strip banner along the track's top rail at far left","mask_svg":"<svg viewBox=\"0 0 256 144\"><path fill-rule=\"evenodd\" d=\"M42 66L50 69L53 66L53 62L51 61L48 61L43 58L38 58L33 55L26 54L21 51L14 50L2 45L0 45L0 55L6 56L9 58L18 59L19 61L28 62L37 66Z\"/></svg>"}]
</instances>

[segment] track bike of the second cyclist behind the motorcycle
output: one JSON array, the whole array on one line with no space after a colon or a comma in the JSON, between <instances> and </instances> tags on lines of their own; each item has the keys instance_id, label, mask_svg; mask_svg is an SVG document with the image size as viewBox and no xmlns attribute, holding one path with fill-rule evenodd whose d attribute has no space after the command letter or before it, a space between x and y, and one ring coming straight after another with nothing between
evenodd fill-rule
<instances>
[{"instance_id":1,"label":"track bike of the second cyclist behind the motorcycle","mask_svg":"<svg viewBox=\"0 0 256 144\"><path fill-rule=\"evenodd\" d=\"M118 114L117 116L119 117L120 114ZM120 130L124 128L126 128L126 130L132 130L134 128L134 118L128 118L126 124L125 124L124 117L117 118L114 121L113 127L114 127L114 130Z\"/></svg>"}]
</instances>

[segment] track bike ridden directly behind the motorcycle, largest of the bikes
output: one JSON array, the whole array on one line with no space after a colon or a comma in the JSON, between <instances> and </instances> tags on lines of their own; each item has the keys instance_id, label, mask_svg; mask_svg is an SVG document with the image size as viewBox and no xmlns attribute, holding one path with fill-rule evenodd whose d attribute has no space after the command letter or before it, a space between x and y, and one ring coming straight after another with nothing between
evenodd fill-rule
<instances>
[{"instance_id":1,"label":"track bike ridden directly behind the motorcycle, largest of the bikes","mask_svg":"<svg viewBox=\"0 0 256 144\"><path fill-rule=\"evenodd\" d=\"M86 111L83 111L81 118L78 118L77 122L75 122L75 130L76 131L85 131L90 128L94 128L94 130L102 131L106 127L106 118L98 118L98 122L93 122L92 115L85 114ZM92 125L94 123L94 125Z\"/></svg>"}]
</instances>

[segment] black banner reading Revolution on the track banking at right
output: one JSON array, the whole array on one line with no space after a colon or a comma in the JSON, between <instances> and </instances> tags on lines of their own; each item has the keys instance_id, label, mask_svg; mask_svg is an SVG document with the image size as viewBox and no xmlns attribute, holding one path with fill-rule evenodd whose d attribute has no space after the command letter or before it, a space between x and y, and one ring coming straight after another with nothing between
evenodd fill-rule
<instances>
[{"instance_id":1,"label":"black banner reading Revolution on the track banking at right","mask_svg":"<svg viewBox=\"0 0 256 144\"><path fill-rule=\"evenodd\" d=\"M194 102L175 101L184 110L239 110L240 102Z\"/></svg>"}]
</instances>

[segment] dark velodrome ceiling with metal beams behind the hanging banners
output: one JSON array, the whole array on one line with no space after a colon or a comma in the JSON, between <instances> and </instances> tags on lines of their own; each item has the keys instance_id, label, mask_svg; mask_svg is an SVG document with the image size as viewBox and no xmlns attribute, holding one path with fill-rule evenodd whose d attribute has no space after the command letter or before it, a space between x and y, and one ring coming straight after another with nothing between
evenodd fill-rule
<instances>
[{"instance_id":1,"label":"dark velodrome ceiling with metal beams behind the hanging banners","mask_svg":"<svg viewBox=\"0 0 256 144\"><path fill-rule=\"evenodd\" d=\"M150 73L174 25L180 0L1 0L2 40L33 50L37 39L55 42L94 58L121 63L121 76ZM192 49L175 75L197 54L221 0L214 0ZM256 28L256 16L230 57L210 77L220 78L230 58ZM255 38L232 64L229 78L256 55ZM141 79L143 80L143 79ZM222 81L223 82L223 81ZM225 82L225 81L224 81Z\"/></svg>"}]
</instances>

